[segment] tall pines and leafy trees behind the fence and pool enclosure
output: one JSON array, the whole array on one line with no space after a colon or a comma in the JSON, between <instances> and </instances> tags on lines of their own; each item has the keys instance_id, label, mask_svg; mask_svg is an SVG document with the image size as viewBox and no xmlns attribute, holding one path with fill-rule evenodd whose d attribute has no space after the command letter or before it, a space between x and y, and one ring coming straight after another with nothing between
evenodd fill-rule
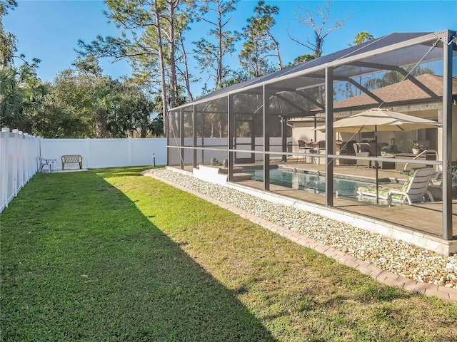
<instances>
[{"instance_id":1,"label":"tall pines and leafy trees behind the fence and pool enclosure","mask_svg":"<svg viewBox=\"0 0 457 342\"><path fill-rule=\"evenodd\" d=\"M50 83L36 75L39 60L18 54L14 33L0 22L0 119L35 135L55 138L120 138L166 135L169 108L192 100L191 84L206 77L201 94L283 68L273 34L278 5L258 1L242 32L229 30L238 0L106 0L105 15L121 28L119 36L96 36L78 42L74 68L60 71ZM0 0L0 19L17 6ZM315 51L301 51L293 63L318 56L326 36L348 18L324 30L330 3L318 9L321 26L311 9L301 20L318 34ZM299 18L298 18L299 19ZM208 31L194 31L204 22ZM303 24L303 22L302 22ZM191 40L189 40L191 37ZM238 41L241 45L237 45ZM308 39L308 42L310 40ZM319 43L319 45L317 45ZM227 61L236 54L241 68ZM121 80L104 75L100 58L126 59L133 73ZM199 73L192 75L190 58ZM15 61L20 65L16 66ZM289 63L290 65L290 63ZM206 76L203 76L206 75ZM159 126L161 128L159 128Z\"/></svg>"}]
</instances>

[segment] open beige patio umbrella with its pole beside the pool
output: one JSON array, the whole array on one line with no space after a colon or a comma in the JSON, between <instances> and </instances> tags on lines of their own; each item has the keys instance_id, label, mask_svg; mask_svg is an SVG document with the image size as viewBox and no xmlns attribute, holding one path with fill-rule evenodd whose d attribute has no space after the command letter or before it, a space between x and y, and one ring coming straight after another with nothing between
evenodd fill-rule
<instances>
[{"instance_id":1,"label":"open beige patio umbrella with its pole beside the pool","mask_svg":"<svg viewBox=\"0 0 457 342\"><path fill-rule=\"evenodd\" d=\"M378 137L376 135L377 132L407 131L437 127L441 127L441 123L437 123L433 120L416 118L415 116L397 113L381 108L368 109L362 113L351 115L348 118L344 118L333 123L333 130L335 132L374 132L376 156L378 155ZM325 132L326 128L325 126L320 126L317 127L316 130ZM376 204L378 204L378 162L375 162L375 172Z\"/></svg>"}]
</instances>

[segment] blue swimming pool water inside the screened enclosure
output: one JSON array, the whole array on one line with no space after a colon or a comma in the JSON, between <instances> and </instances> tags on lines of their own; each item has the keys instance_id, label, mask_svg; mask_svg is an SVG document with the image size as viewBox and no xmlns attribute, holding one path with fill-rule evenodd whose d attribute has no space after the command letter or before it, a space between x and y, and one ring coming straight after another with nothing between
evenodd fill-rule
<instances>
[{"instance_id":1,"label":"blue swimming pool water inside the screened enclosure","mask_svg":"<svg viewBox=\"0 0 457 342\"><path fill-rule=\"evenodd\" d=\"M252 175L252 180L263 182L263 170L244 170ZM270 183L290 187L295 190L305 190L316 194L325 194L326 177L302 172L291 172L281 169L270 170ZM357 187L373 186L372 182L359 182L335 177L333 179L333 194L353 197L357 195Z\"/></svg>"}]
</instances>

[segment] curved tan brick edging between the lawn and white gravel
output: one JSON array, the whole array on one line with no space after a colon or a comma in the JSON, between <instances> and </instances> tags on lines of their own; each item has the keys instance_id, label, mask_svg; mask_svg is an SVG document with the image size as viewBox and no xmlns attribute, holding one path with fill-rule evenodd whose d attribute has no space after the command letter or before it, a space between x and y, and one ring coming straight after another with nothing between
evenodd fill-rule
<instances>
[{"instance_id":1,"label":"curved tan brick edging between the lawn and white gravel","mask_svg":"<svg viewBox=\"0 0 457 342\"><path fill-rule=\"evenodd\" d=\"M272 223L258 217L254 214L244 211L238 207L233 207L230 204L226 204L224 202L219 201L219 199L214 199L213 197L209 197L207 195L203 195L200 192L196 192L191 190L187 187L183 187L182 185L176 184L164 178L161 178L157 175L153 175L148 172L143 172L144 176L152 177L156 180L160 180L168 185L178 188L179 190L183 190L185 192L189 192L192 195L200 197L201 199L205 199L208 202L218 205L219 207L223 207L235 214L238 214L243 219L248 219L249 221L259 224L261 227L271 230L271 232L275 232L276 234L281 235L281 237L286 237L287 239L291 240L292 242L296 242L303 247L308 247L314 249L316 252L326 255L327 257L331 257L335 259L339 263L352 267L353 269L357 269L361 271L363 274L368 274L373 279L378 281L381 284L385 284L388 286L396 286L399 289L405 289L406 291L413 291L418 292L421 294L425 294L426 296L436 296L439 299L443 299L446 301L456 301L457 302L457 289L448 288L446 286L438 286L429 283L423 283L421 281L416 281L413 279L405 278L404 276L399 276L398 274L393 274L389 271L383 270L374 266L373 264L369 264L366 261L353 257L350 254L346 254L344 252L339 251L333 247L330 247L326 244L318 242L314 239L309 237L305 237L302 234L297 232L293 232L290 229L286 229L284 227L279 226L278 224Z\"/></svg>"}]
</instances>

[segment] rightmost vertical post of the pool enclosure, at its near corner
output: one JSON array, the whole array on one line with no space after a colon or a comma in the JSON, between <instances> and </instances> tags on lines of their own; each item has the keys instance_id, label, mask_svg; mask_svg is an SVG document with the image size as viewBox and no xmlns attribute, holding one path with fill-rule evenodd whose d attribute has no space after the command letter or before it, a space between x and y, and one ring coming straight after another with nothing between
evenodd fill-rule
<instances>
[{"instance_id":1,"label":"rightmost vertical post of the pool enclosure, at its near corner","mask_svg":"<svg viewBox=\"0 0 457 342\"><path fill-rule=\"evenodd\" d=\"M453 35L443 32L443 239L452 239L452 57ZM451 36L451 37L449 37ZM451 43L449 43L451 42Z\"/></svg>"}]
</instances>

